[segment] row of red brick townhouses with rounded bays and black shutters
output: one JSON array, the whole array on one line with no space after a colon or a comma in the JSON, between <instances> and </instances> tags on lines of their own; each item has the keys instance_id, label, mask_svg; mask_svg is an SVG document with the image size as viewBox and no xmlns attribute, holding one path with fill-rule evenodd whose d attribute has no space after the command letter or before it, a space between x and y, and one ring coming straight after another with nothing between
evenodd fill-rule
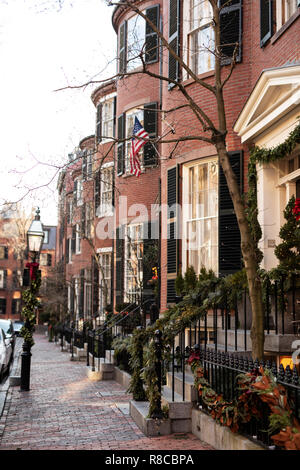
<instances>
[{"instance_id":1,"label":"row of red brick townhouses with rounded bays and black shutters","mask_svg":"<svg viewBox=\"0 0 300 470\"><path fill-rule=\"evenodd\" d=\"M210 2L144 0L137 5L192 73L213 85ZM247 193L250 149L282 143L298 123L299 0L220 0L220 5L222 78L231 73L236 57L224 88L227 150L240 191ZM172 80L213 122L215 97L187 74L132 8L116 6L112 25L119 77L92 93L95 136L81 141L59 181L58 256L69 282L68 310L84 318L124 303L142 303L147 312L148 300L163 313L175 302L178 273L188 266L197 274L205 267L219 276L242 267L237 220L216 149L188 139L200 133L199 121ZM135 117L151 137L139 154L138 178L130 162ZM177 137L182 140L160 143ZM291 195L299 197L299 147L280 164L258 165L257 171L262 267L269 270L277 265L274 246L283 209ZM187 211L178 210L184 205ZM165 213L161 207L169 209ZM188 243L191 234L194 244ZM153 268L159 274L155 295L148 282Z\"/></svg>"}]
</instances>

